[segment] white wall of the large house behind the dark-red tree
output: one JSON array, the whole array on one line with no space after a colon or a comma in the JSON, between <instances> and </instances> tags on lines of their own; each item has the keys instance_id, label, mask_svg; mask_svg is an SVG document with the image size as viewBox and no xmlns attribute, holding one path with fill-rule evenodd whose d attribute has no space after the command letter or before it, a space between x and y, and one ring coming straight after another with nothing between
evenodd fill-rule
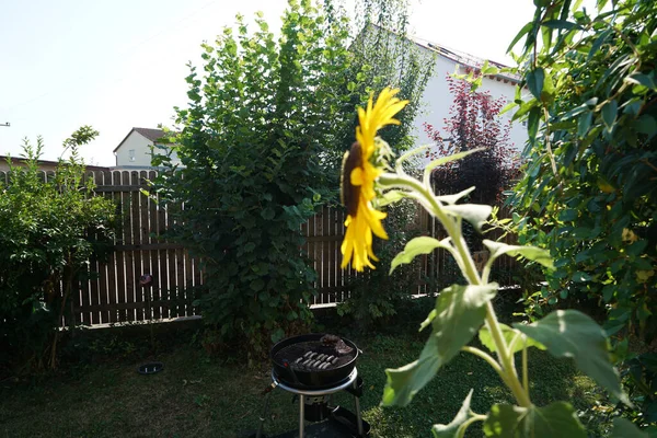
<instances>
[{"instance_id":1,"label":"white wall of the large house behind the dark-red tree","mask_svg":"<svg viewBox=\"0 0 657 438\"><path fill-rule=\"evenodd\" d=\"M425 122L433 125L434 129L445 132L445 119L449 118L449 108L453 102L453 95L449 91L446 76L453 73L456 67L456 61L440 55L436 57L434 76L428 80L423 95L423 107L413 123L413 136L416 138L416 146L424 146L433 142L423 126ZM506 103L508 103L511 102L516 95L516 84L510 81L504 83L497 79L484 78L482 87L480 87L477 91L489 91L493 99L504 97ZM503 122L506 123L510 120L511 116L511 112L504 114L502 116ZM527 138L527 127L522 126L521 123L514 123L509 132L509 139L514 145L514 149L518 152L522 151ZM428 161L429 159L425 159L423 164Z\"/></svg>"}]
</instances>

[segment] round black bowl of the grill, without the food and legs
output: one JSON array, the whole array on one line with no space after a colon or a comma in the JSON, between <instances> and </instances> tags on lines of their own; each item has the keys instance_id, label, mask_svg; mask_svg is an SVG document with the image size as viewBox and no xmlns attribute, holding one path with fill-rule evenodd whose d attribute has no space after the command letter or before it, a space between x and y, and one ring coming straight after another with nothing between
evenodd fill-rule
<instances>
[{"instance_id":1,"label":"round black bowl of the grill, without the food and legs","mask_svg":"<svg viewBox=\"0 0 657 438\"><path fill-rule=\"evenodd\" d=\"M288 367L283 364L283 357L278 353L286 347L295 344L303 344L309 342L319 342L325 333L311 333L306 335L292 336L287 339L283 339L272 347L270 357L274 362L274 372L278 380L287 384L288 387L300 389L300 390L322 390L327 388L337 387L349 378L349 374L356 367L356 359L358 358L358 347L349 339L342 337L343 342L349 347L354 348L354 357L346 364L342 364L338 367L330 368L326 370L293 370L291 371ZM287 358L292 360L292 358Z\"/></svg>"}]
</instances>

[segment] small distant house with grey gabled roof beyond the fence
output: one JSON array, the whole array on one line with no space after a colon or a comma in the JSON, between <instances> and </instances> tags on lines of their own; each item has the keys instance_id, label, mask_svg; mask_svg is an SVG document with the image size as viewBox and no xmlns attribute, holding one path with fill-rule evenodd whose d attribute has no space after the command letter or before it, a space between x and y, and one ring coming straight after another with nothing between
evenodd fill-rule
<instances>
[{"instance_id":1,"label":"small distant house with grey gabled roof beyond the fence","mask_svg":"<svg viewBox=\"0 0 657 438\"><path fill-rule=\"evenodd\" d=\"M120 143L114 149L116 157L115 170L155 169L152 163L153 151L165 153L170 142L162 129L132 128ZM172 153L172 161L180 160Z\"/></svg>"}]
</instances>

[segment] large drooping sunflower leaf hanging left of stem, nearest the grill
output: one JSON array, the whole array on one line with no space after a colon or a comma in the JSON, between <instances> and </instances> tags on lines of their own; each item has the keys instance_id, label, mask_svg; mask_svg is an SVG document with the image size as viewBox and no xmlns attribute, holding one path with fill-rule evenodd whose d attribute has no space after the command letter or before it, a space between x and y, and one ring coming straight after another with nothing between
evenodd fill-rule
<instances>
[{"instance_id":1,"label":"large drooping sunflower leaf hanging left of stem, nearest the grill","mask_svg":"<svg viewBox=\"0 0 657 438\"><path fill-rule=\"evenodd\" d=\"M459 286L443 289L436 299L434 331L419 359L397 369L387 369L388 383L381 403L405 406L438 369L468 344L486 318L486 302L495 297L498 285Z\"/></svg>"}]
</instances>

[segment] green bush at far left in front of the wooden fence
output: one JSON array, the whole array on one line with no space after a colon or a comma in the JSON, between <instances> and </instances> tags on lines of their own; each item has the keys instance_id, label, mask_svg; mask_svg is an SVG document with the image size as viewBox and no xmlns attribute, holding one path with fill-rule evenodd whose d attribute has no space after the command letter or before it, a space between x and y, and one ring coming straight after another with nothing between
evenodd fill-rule
<instances>
[{"instance_id":1,"label":"green bush at far left in front of the wooden fence","mask_svg":"<svg viewBox=\"0 0 657 438\"><path fill-rule=\"evenodd\" d=\"M43 141L25 140L25 166L10 165L0 194L0 361L55 367L57 328L92 255L112 244L114 205L93 196L78 148L97 135L82 127L65 141L55 175L38 169ZM48 355L48 357L46 357Z\"/></svg>"}]
</instances>

